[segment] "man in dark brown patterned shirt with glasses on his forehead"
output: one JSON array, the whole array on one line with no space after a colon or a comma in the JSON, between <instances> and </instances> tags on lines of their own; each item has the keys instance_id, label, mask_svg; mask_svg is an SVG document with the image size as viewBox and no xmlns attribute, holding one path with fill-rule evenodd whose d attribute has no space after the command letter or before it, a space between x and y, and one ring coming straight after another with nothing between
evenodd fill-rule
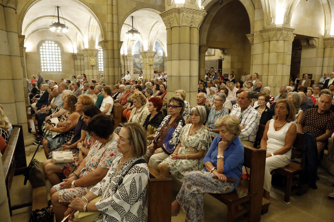
<instances>
[{"instance_id":1,"label":"man in dark brown patterned shirt with glasses on his forehead","mask_svg":"<svg viewBox=\"0 0 334 222\"><path fill-rule=\"evenodd\" d=\"M318 154L325 148L334 132L334 113L329 110L333 100L330 90L321 90L319 107L307 109L298 124L298 132L312 132L316 136Z\"/></svg>"}]
</instances>

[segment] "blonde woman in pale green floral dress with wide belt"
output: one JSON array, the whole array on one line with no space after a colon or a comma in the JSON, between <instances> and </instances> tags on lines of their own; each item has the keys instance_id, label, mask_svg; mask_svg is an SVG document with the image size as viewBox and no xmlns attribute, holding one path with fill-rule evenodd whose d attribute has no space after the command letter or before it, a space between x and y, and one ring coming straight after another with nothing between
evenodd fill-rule
<instances>
[{"instance_id":1,"label":"blonde woman in pale green floral dress with wide belt","mask_svg":"<svg viewBox=\"0 0 334 222\"><path fill-rule=\"evenodd\" d=\"M206 110L203 106L191 109L191 123L181 129L180 143L174 153L158 165L157 170L162 175L168 177L171 172L176 179L183 182L184 175L203 168L204 152L210 148L212 142L209 132L203 125L205 119Z\"/></svg>"}]
</instances>

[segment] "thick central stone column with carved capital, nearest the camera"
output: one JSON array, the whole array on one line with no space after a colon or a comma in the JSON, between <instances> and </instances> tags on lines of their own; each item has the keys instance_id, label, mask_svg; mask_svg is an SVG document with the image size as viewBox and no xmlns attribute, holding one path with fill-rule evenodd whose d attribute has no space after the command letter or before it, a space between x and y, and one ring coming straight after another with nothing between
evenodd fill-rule
<instances>
[{"instance_id":1,"label":"thick central stone column with carved capital, nearest the camera","mask_svg":"<svg viewBox=\"0 0 334 222\"><path fill-rule=\"evenodd\" d=\"M167 31L167 94L173 95L176 90L183 89L190 106L196 106L198 30L206 15L194 3L186 1L185 7L175 8L176 5L165 1L167 10L160 14Z\"/></svg>"}]
</instances>

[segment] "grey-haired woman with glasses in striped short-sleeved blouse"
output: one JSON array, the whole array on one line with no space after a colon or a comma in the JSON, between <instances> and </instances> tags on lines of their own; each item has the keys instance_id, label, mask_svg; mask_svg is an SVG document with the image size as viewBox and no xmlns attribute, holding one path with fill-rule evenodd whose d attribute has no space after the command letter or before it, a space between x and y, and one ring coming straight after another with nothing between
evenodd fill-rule
<instances>
[{"instance_id":1,"label":"grey-haired woman with glasses in striped short-sleeved blouse","mask_svg":"<svg viewBox=\"0 0 334 222\"><path fill-rule=\"evenodd\" d=\"M226 101L226 96L223 93L217 93L214 100L213 105L214 108L211 109L208 120L206 121L205 128L209 132L219 133L219 130L214 125L214 123L219 119L220 117L228 114L228 112L223 108L223 105Z\"/></svg>"}]
</instances>

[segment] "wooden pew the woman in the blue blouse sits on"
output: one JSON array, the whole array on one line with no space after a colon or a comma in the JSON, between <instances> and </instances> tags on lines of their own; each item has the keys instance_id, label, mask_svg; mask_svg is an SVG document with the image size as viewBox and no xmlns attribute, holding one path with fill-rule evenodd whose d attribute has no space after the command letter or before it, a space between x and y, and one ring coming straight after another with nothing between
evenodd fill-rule
<instances>
[{"instance_id":1,"label":"wooden pew the woman in the blue blouse sits on","mask_svg":"<svg viewBox=\"0 0 334 222\"><path fill-rule=\"evenodd\" d=\"M234 221L245 214L247 217L243 218L243 221L261 220L265 165L266 150L244 146L243 166L250 168L248 187L239 184L237 189L231 193L210 193L211 196L227 205L227 221Z\"/></svg>"}]
</instances>

